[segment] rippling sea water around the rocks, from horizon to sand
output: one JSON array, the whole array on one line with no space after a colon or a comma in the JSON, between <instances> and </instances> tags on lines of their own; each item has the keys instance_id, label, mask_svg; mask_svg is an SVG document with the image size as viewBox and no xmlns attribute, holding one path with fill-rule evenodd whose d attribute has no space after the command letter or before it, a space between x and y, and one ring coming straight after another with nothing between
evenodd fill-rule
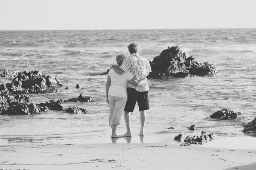
<instances>
[{"instance_id":1,"label":"rippling sea water around the rocks, from horizon to sand","mask_svg":"<svg viewBox=\"0 0 256 170\"><path fill-rule=\"evenodd\" d=\"M95 99L64 103L64 108L81 107L87 109L88 114L50 111L0 116L0 142L17 144L63 139L102 142L102 137L111 142L108 138L111 135L109 106L105 101L107 75L99 74L116 64L117 54L128 56L127 46L131 42L140 44L139 54L146 59L152 60L163 49L178 45L198 62L209 62L217 68L217 77L148 79L150 110L145 125L145 139L150 136L148 142L154 139L173 142L175 135L200 135L201 130L214 132L215 141L246 139L251 144L255 142L254 135L245 135L241 130L244 123L256 117L256 28L0 31L0 69L40 70L42 74L57 77L64 85L58 93L31 94L31 102L70 99L82 92ZM8 82L11 79L0 78L0 84ZM81 88L76 88L76 84ZM69 89L65 90L66 87ZM223 108L240 111L241 119L210 118ZM123 118L120 124L118 132L125 133ZM198 130L187 130L190 125ZM174 129L168 130L169 127ZM140 112L136 106L131 113L132 135L137 136L139 130ZM161 139L161 134L166 135Z\"/></svg>"}]
</instances>

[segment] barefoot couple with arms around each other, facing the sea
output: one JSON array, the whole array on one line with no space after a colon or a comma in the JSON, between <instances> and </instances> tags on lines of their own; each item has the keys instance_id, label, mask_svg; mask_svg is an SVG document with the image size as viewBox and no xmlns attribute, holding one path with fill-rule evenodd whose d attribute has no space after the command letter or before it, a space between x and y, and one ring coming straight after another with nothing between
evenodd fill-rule
<instances>
[{"instance_id":1,"label":"barefoot couple with arms around each other, facing the sea","mask_svg":"<svg viewBox=\"0 0 256 170\"><path fill-rule=\"evenodd\" d=\"M139 135L144 136L145 110L149 109L149 87L146 77L151 72L150 64L147 59L138 54L138 43L128 45L128 50L131 55L127 58L123 54L117 55L117 66L112 65L108 73L106 98L109 104L109 125L112 128L112 138L131 136L130 112L134 111L136 102L140 111ZM125 111L126 133L119 135L116 133L116 127L120 123L123 111Z\"/></svg>"}]
</instances>

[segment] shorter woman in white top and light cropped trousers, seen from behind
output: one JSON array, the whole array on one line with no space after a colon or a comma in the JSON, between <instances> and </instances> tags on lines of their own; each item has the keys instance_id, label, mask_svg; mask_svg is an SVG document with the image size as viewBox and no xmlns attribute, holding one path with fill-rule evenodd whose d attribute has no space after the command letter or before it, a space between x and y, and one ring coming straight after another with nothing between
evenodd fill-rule
<instances>
[{"instance_id":1,"label":"shorter woman in white top and light cropped trousers, seen from behind","mask_svg":"<svg viewBox=\"0 0 256 170\"><path fill-rule=\"evenodd\" d=\"M119 54L116 56L117 67L122 65L122 61L125 59L125 55ZM116 127L119 125L122 113L127 101L127 82L130 81L133 85L142 85L147 79L137 80L130 71L124 74L117 74L113 69L108 73L107 85L106 85L106 99L109 104L109 125L112 128L112 138L122 137L116 133Z\"/></svg>"}]
</instances>

